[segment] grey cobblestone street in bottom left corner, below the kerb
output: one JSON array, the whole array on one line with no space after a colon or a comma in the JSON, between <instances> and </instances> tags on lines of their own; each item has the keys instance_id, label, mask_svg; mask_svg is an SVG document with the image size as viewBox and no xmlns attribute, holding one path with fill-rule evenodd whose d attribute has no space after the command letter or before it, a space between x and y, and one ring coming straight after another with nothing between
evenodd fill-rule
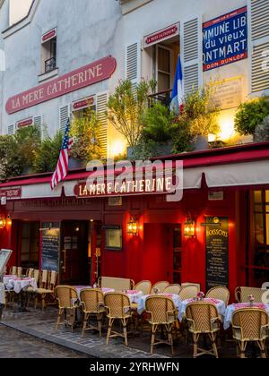
<instances>
[{"instance_id":1,"label":"grey cobblestone street in bottom left corner, below the kerb","mask_svg":"<svg viewBox=\"0 0 269 376\"><path fill-rule=\"evenodd\" d=\"M0 325L0 358L87 358L68 348Z\"/></svg>"}]
</instances>

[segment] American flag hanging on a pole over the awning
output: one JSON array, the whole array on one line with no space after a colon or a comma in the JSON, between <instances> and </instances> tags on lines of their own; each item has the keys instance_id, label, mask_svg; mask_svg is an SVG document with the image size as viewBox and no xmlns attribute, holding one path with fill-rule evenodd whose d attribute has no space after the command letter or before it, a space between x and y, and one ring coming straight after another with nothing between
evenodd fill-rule
<instances>
[{"instance_id":1,"label":"American flag hanging on a pole over the awning","mask_svg":"<svg viewBox=\"0 0 269 376\"><path fill-rule=\"evenodd\" d=\"M63 139L62 149L60 152L60 157L56 166L56 170L51 178L51 189L54 190L56 186L65 179L68 174L68 161L69 161L69 151L71 150L73 139L70 138L70 119L68 119L65 127L65 136Z\"/></svg>"}]
</instances>

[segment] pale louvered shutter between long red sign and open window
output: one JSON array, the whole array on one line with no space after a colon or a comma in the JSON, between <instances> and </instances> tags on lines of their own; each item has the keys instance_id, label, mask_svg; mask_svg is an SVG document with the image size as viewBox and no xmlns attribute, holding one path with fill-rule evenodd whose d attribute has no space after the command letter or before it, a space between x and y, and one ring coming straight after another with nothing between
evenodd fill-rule
<instances>
[{"instance_id":1,"label":"pale louvered shutter between long red sign and open window","mask_svg":"<svg viewBox=\"0 0 269 376\"><path fill-rule=\"evenodd\" d=\"M126 79L135 86L140 81L141 54L138 43L126 47Z\"/></svg>"}]
</instances>

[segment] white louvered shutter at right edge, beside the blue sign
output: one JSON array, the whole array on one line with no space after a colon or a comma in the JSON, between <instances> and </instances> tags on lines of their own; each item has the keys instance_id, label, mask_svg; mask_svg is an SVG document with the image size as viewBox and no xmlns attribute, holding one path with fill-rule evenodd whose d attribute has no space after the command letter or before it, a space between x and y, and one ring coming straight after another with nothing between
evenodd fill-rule
<instances>
[{"instance_id":1,"label":"white louvered shutter at right edge, beside the blue sign","mask_svg":"<svg viewBox=\"0 0 269 376\"><path fill-rule=\"evenodd\" d=\"M248 0L251 22L251 91L269 94L269 0Z\"/></svg>"}]
</instances>

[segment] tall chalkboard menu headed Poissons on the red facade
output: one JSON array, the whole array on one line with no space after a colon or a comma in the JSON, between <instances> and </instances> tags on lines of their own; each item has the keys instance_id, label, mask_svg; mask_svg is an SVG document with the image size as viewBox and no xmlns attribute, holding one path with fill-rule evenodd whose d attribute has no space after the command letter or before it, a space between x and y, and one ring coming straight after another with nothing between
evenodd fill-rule
<instances>
[{"instance_id":1,"label":"tall chalkboard menu headed Poissons on the red facade","mask_svg":"<svg viewBox=\"0 0 269 376\"><path fill-rule=\"evenodd\" d=\"M229 286L229 218L206 218L206 288Z\"/></svg>"}]
</instances>

